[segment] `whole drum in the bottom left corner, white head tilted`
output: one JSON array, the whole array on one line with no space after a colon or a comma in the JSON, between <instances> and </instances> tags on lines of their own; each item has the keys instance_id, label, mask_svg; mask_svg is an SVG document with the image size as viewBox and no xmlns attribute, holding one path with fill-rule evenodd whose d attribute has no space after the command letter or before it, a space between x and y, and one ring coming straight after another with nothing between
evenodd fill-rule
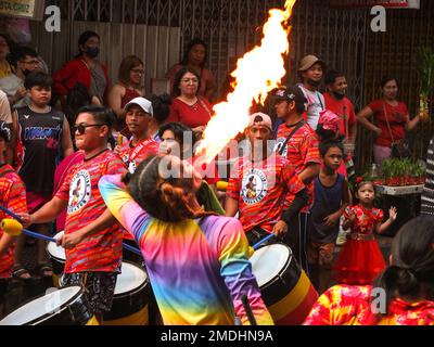
<instances>
[{"instance_id":1,"label":"whole drum in the bottom left corner, white head tilted","mask_svg":"<svg viewBox=\"0 0 434 347\"><path fill-rule=\"evenodd\" d=\"M55 290L24 304L0 325L98 325L79 286Z\"/></svg>"}]
</instances>

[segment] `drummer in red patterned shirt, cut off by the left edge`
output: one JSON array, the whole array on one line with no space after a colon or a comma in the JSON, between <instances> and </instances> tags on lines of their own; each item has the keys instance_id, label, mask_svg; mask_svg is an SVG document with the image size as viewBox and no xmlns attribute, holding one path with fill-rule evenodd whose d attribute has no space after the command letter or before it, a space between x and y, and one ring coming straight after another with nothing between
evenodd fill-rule
<instances>
[{"instance_id":1,"label":"drummer in red patterned shirt, cut off by the left edge","mask_svg":"<svg viewBox=\"0 0 434 347\"><path fill-rule=\"evenodd\" d=\"M4 121L0 121L0 205L15 214L27 211L26 189L20 176L5 163L7 143L11 131ZM0 210L0 221L7 218ZM14 265L13 236L3 233L0 228L0 317L3 314L4 298Z\"/></svg>"}]
</instances>

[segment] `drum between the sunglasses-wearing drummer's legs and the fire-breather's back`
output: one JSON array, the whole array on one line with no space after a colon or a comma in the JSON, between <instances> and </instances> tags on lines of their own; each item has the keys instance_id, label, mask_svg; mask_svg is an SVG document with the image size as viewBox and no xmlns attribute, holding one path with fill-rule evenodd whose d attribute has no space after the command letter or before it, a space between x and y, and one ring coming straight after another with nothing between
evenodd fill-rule
<instances>
[{"instance_id":1,"label":"drum between the sunglasses-wearing drummer's legs and the fire-breather's back","mask_svg":"<svg viewBox=\"0 0 434 347\"><path fill-rule=\"evenodd\" d=\"M131 262L123 261L112 310L104 314L104 325L148 325L150 291L146 272Z\"/></svg>"}]
</instances>

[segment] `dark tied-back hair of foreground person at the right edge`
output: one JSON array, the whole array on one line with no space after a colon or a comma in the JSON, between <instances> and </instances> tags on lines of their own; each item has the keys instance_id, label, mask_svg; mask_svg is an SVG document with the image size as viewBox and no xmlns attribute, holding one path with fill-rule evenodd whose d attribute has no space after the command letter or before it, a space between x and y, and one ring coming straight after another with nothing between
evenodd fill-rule
<instances>
[{"instance_id":1,"label":"dark tied-back hair of foreground person at the right edge","mask_svg":"<svg viewBox=\"0 0 434 347\"><path fill-rule=\"evenodd\" d=\"M386 309L396 297L434 300L434 217L419 216L407 222L392 244L392 266L374 287L386 293Z\"/></svg>"}]
</instances>

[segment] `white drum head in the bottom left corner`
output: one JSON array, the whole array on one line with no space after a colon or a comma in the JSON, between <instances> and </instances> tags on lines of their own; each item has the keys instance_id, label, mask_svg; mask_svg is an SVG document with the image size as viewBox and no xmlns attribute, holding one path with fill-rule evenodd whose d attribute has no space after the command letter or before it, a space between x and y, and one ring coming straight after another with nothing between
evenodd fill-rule
<instances>
[{"instance_id":1,"label":"white drum head in the bottom left corner","mask_svg":"<svg viewBox=\"0 0 434 347\"><path fill-rule=\"evenodd\" d=\"M55 314L65 304L81 292L79 286L68 286L27 303L0 321L0 325L36 324L47 314Z\"/></svg>"}]
</instances>

